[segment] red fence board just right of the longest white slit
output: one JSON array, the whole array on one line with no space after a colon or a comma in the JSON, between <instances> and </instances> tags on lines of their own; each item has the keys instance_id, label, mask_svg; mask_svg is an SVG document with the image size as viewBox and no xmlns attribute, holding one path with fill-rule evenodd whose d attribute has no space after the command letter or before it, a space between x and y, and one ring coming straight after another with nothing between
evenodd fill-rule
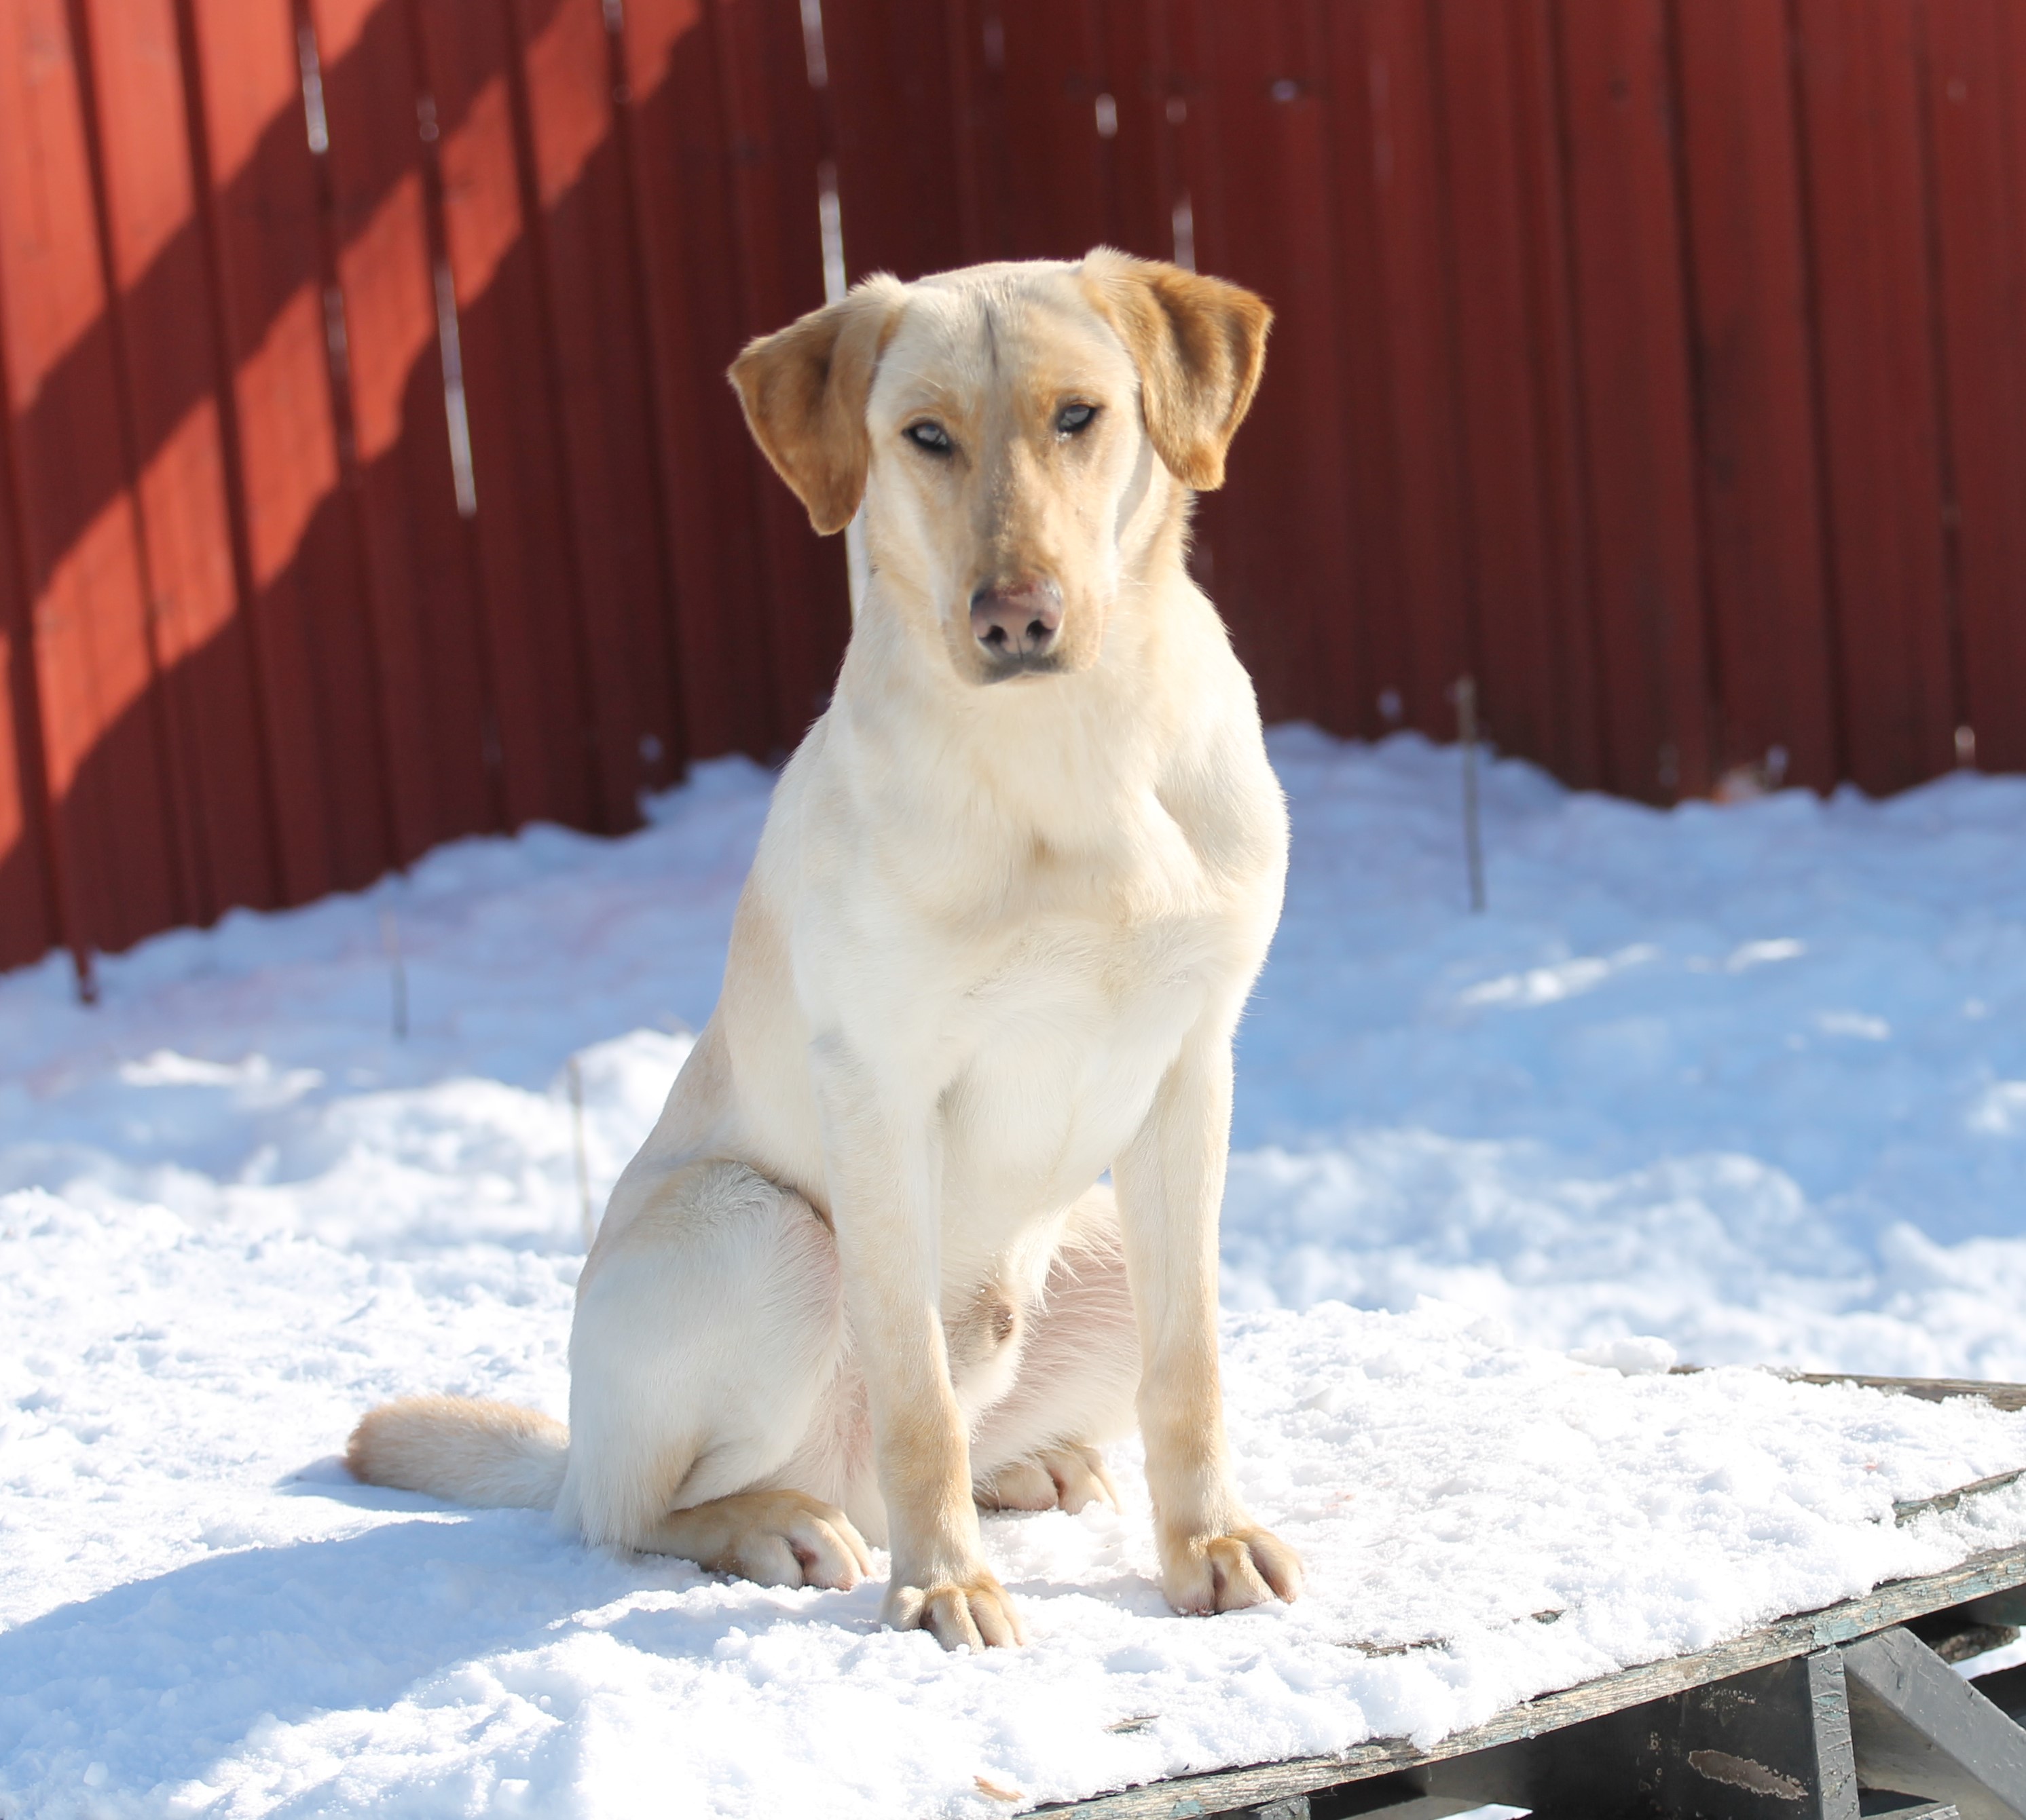
<instances>
[{"instance_id":1,"label":"red fence board just right of the longest white slit","mask_svg":"<svg viewBox=\"0 0 2026 1820\"><path fill-rule=\"evenodd\" d=\"M511 826L596 826L592 711L533 174L519 146L513 38L494 4L409 0L442 176L444 255L462 352L478 593Z\"/></svg>"}]
</instances>

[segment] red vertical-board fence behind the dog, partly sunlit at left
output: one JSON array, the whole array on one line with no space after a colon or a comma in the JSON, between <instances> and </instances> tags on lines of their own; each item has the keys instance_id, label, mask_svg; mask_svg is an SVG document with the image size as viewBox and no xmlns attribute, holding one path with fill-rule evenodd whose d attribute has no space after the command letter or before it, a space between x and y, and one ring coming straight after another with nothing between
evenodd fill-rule
<instances>
[{"instance_id":1,"label":"red vertical-board fence behind the dog, partly sunlit at left","mask_svg":"<svg viewBox=\"0 0 2026 1820\"><path fill-rule=\"evenodd\" d=\"M2016 0L0 0L0 964L792 745L843 555L721 368L819 190L1272 300L1272 717L2026 769Z\"/></svg>"}]
</instances>

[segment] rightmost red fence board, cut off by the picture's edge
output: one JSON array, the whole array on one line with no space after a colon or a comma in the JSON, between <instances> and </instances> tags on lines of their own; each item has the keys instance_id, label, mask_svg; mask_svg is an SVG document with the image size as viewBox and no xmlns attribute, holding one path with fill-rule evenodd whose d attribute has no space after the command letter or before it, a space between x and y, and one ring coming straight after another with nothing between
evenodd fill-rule
<instances>
[{"instance_id":1,"label":"rightmost red fence board, cut off by the picture's edge","mask_svg":"<svg viewBox=\"0 0 2026 1820\"><path fill-rule=\"evenodd\" d=\"M1927 117L1959 705L1988 771L2026 769L2026 16L1929 0Z\"/></svg>"}]
</instances>

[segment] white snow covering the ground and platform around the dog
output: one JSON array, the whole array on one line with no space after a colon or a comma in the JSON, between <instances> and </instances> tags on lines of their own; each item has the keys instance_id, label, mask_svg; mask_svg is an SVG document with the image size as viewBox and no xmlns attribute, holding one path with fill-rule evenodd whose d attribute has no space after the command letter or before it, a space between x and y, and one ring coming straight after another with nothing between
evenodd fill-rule
<instances>
[{"instance_id":1,"label":"white snow covering the ground and platform around the dog","mask_svg":"<svg viewBox=\"0 0 2026 1820\"><path fill-rule=\"evenodd\" d=\"M723 763L624 842L158 937L91 1010L0 980L0 1814L1007 1812L2026 1537L2026 1488L1890 1522L2026 1417L1637 1371L2026 1379L2026 779L1655 814L1501 763L1473 917L1453 751L1274 759L1226 1344L1311 1599L1165 1616L1128 1456L1122 1514L989 1524L1035 1646L979 1660L336 1468L391 1393L563 1411L567 1065L596 1203L715 996L768 788Z\"/></svg>"}]
</instances>

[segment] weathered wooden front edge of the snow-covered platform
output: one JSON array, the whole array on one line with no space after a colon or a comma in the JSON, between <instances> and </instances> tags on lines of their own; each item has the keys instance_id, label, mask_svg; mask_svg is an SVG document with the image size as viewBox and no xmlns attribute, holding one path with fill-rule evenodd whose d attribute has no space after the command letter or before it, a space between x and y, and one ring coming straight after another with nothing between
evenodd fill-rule
<instances>
[{"instance_id":1,"label":"weathered wooden front edge of the snow-covered platform","mask_svg":"<svg viewBox=\"0 0 2026 1820\"><path fill-rule=\"evenodd\" d=\"M2022 1585L2026 1585L2026 1547L1990 1549L1941 1573L1886 1581L1858 1599L1779 1618L1726 1644L1698 1650L1694 1656L1641 1662L1580 1686L1540 1694L1509 1707L1483 1725L1453 1731L1426 1749L1404 1737L1372 1739L1335 1757L1295 1757L1284 1763L1177 1775L1031 1812L1076 1814L1080 1820L1187 1820L1187 1816L1224 1814L1232 1808L1313 1794L1341 1782L1363 1782L1370 1775L1410 1769L1416 1763L1438 1763L1445 1757L1463 1757L1515 1739L1538 1737L1584 1719L1603 1719L1607 1713L1643 1707L1647 1701L1686 1692L1712 1680L1728 1680L1732 1674L1805 1656L1829 1644L1856 1642L1894 1624L1925 1618L1929 1611L1947 1611L1951 1605Z\"/></svg>"}]
</instances>

